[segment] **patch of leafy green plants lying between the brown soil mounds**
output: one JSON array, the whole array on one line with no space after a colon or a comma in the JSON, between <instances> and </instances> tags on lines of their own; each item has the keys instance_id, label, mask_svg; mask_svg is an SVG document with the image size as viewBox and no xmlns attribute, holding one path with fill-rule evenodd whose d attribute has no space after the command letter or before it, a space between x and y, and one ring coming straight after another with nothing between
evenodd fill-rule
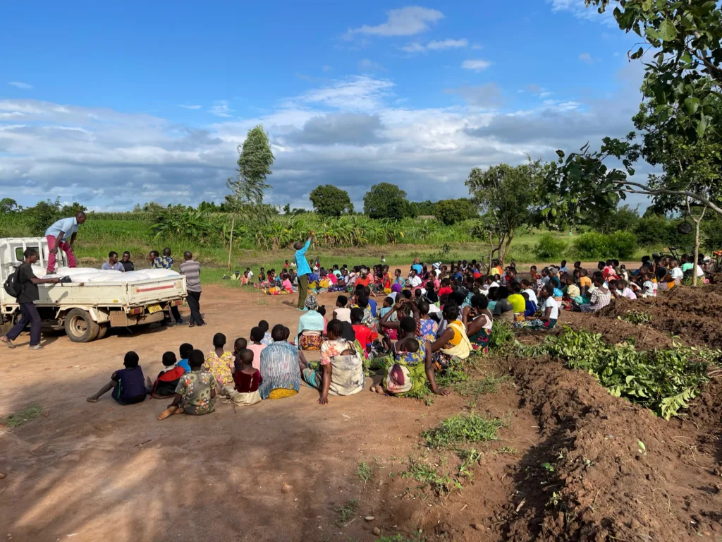
<instances>
[{"instance_id":1,"label":"patch of leafy green plants lying between the brown soil mounds","mask_svg":"<svg viewBox=\"0 0 722 542\"><path fill-rule=\"evenodd\" d=\"M599 334L565 326L557 337L546 337L526 356L561 358L570 369L592 374L615 397L626 397L669 420L687 408L722 356L721 350L674 344L669 350L637 350L632 342L607 344Z\"/></svg>"}]
</instances>

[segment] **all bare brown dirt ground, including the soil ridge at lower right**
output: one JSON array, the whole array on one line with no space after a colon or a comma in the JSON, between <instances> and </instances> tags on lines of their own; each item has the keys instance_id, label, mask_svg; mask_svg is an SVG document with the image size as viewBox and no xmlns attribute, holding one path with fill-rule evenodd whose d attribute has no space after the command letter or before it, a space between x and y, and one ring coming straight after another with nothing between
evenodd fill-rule
<instances>
[{"instance_id":1,"label":"all bare brown dirt ground, including the soil ridge at lower right","mask_svg":"<svg viewBox=\"0 0 722 542\"><path fill-rule=\"evenodd\" d=\"M336 294L321 296L333 305ZM155 377L165 350L189 342L207 351L215 332L229 342L259 319L286 324L290 296L204 288L207 327L113 332L79 345L64 335L30 353L0 350L0 418L30 403L40 416L0 427L0 535L14 541L370 541L373 529L400 541L654 540L722 536L722 387L713 382L684 418L666 422L612 397L590 375L551 360L488 360L510 374L477 400L453 393L421 400L367 390L316 403L296 397L209 416L156 421L167 400L122 407L110 394L85 397L136 350ZM614 318L562 313L562 321L609 341L645 348L669 333ZM666 341L666 342L665 342ZM370 387L367 379L366 388ZM453 452L427 449L419 434L453 414L504 418L500 440L477 446L473 477ZM641 451L638 442L645 443ZM411 458L411 459L410 459ZM438 496L402 473L415 461L458 478ZM373 470L362 483L360 462ZM339 509L357 510L339 521ZM366 521L366 516L373 520Z\"/></svg>"}]
</instances>

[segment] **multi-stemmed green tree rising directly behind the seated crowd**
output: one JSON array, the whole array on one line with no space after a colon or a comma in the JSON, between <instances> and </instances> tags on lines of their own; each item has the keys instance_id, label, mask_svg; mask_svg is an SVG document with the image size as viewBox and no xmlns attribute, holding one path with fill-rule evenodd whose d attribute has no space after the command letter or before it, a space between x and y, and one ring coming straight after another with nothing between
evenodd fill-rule
<instances>
[{"instance_id":1,"label":"multi-stemmed green tree rising directly behind the seated crowd","mask_svg":"<svg viewBox=\"0 0 722 542\"><path fill-rule=\"evenodd\" d=\"M518 228L534 218L535 204L545 166L536 160L512 166L494 165L487 171L474 168L466 179L474 202L485 213L484 236L503 263ZM491 264L491 262L490 262Z\"/></svg>"}]
</instances>

